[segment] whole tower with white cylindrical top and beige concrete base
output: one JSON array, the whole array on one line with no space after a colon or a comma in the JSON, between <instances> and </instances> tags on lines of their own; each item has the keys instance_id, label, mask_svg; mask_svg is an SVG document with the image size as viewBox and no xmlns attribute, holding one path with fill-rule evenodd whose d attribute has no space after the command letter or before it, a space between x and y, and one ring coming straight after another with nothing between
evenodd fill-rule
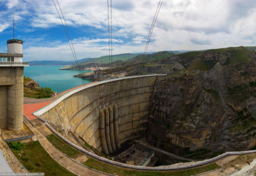
<instances>
[{"instance_id":1,"label":"whole tower with white cylindrical top and beige concrete base","mask_svg":"<svg viewBox=\"0 0 256 176\"><path fill-rule=\"evenodd\" d=\"M23 42L19 39L7 41L7 53L0 53L0 128L21 130L23 128Z\"/></svg>"}]
</instances>

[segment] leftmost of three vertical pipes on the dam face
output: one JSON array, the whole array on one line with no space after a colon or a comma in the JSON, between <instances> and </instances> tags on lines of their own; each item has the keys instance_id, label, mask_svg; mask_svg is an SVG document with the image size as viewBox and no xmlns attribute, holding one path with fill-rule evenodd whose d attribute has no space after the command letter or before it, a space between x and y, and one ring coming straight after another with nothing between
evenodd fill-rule
<instances>
[{"instance_id":1,"label":"leftmost of three vertical pipes on the dam face","mask_svg":"<svg viewBox=\"0 0 256 176\"><path fill-rule=\"evenodd\" d=\"M106 137L105 137L105 117L103 110L100 110L100 141L102 145L102 150L106 155L109 155L109 150L107 149Z\"/></svg>"}]
</instances>

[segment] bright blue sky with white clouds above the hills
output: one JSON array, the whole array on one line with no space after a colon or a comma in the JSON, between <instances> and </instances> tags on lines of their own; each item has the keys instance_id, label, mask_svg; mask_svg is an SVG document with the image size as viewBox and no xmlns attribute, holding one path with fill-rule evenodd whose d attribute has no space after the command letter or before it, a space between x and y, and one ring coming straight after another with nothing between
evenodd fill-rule
<instances>
[{"instance_id":1,"label":"bright blue sky with white clouds above the hills","mask_svg":"<svg viewBox=\"0 0 256 176\"><path fill-rule=\"evenodd\" d=\"M113 55L144 52L158 0L112 0ZM56 0L55 0L56 3ZM59 0L77 59L109 55L107 1ZM109 0L110 5L110 0ZM72 61L51 0L0 0L0 52L24 42L24 61ZM256 46L255 0L164 0L149 52Z\"/></svg>"}]
</instances>

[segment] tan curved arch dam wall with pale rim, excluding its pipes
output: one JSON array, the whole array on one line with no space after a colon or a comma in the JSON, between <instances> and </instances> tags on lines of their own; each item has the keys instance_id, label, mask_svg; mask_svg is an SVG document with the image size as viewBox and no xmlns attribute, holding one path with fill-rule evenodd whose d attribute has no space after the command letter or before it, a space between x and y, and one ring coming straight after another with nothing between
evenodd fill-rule
<instances>
[{"instance_id":1,"label":"tan curved arch dam wall with pale rim, excluding its pipes","mask_svg":"<svg viewBox=\"0 0 256 176\"><path fill-rule=\"evenodd\" d=\"M36 111L34 115L46 119L59 130L71 130L90 146L102 151L100 112L114 107L114 104L118 106L120 144L145 135L150 97L157 77L124 77L81 86Z\"/></svg>"}]
</instances>

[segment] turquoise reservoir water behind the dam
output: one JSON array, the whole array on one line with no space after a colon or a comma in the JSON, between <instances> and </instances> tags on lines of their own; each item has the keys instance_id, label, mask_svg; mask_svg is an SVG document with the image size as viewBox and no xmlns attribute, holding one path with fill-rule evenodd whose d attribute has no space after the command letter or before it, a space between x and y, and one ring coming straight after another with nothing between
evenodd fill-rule
<instances>
[{"instance_id":1,"label":"turquoise reservoir water behind the dam","mask_svg":"<svg viewBox=\"0 0 256 176\"><path fill-rule=\"evenodd\" d=\"M78 70L59 70L64 66L28 66L24 67L24 76L30 77L40 84L40 87L49 87L53 91L63 92L69 88L91 82L89 79L73 77ZM81 72L91 72L83 70Z\"/></svg>"}]
</instances>

